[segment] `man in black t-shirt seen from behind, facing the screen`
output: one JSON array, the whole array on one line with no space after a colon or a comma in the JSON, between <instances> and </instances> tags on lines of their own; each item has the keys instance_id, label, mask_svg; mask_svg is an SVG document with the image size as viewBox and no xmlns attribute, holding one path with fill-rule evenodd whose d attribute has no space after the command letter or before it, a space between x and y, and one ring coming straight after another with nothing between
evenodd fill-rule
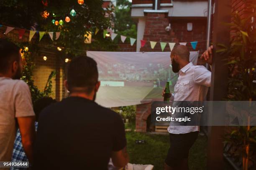
<instances>
[{"instance_id":1,"label":"man in black t-shirt seen from behind, facing the screen","mask_svg":"<svg viewBox=\"0 0 256 170\"><path fill-rule=\"evenodd\" d=\"M73 59L65 86L68 98L40 114L34 169L107 170L128 163L123 120L94 102L100 87L97 63L90 57Z\"/></svg>"}]
</instances>

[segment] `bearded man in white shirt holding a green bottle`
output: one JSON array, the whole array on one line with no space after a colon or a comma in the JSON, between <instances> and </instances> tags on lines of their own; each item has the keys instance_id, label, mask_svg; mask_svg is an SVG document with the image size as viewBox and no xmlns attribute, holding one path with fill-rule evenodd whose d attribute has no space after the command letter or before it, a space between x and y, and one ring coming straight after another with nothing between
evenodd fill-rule
<instances>
[{"instance_id":1,"label":"bearded man in white shirt holding a green bottle","mask_svg":"<svg viewBox=\"0 0 256 170\"><path fill-rule=\"evenodd\" d=\"M212 46L201 58L212 64ZM203 101L211 84L211 72L204 66L189 62L189 50L184 45L174 47L171 52L172 70L179 72L174 86L172 101ZM163 91L164 94L164 91ZM170 148L165 160L165 170L188 170L189 149L195 143L199 126L174 126L170 122L168 132Z\"/></svg>"}]
</instances>

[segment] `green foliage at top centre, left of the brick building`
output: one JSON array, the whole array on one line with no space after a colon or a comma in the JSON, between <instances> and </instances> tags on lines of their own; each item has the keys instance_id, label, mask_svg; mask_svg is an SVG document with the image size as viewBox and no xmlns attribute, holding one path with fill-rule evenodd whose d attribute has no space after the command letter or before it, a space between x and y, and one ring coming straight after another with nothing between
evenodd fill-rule
<instances>
[{"instance_id":1,"label":"green foliage at top centre, left of the brick building","mask_svg":"<svg viewBox=\"0 0 256 170\"><path fill-rule=\"evenodd\" d=\"M115 7L115 32L128 37L136 38L136 23L131 18L131 2L118 0Z\"/></svg>"}]
</instances>

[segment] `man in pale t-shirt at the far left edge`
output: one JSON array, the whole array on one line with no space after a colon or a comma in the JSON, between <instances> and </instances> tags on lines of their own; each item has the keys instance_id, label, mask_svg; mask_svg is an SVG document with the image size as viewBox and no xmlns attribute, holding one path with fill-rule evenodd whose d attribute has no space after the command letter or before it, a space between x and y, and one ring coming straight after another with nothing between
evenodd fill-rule
<instances>
[{"instance_id":1,"label":"man in pale t-shirt at the far left edge","mask_svg":"<svg viewBox=\"0 0 256 170\"><path fill-rule=\"evenodd\" d=\"M0 39L0 161L11 161L16 128L19 128L23 148L33 163L35 114L29 87L20 80L21 71L20 48Z\"/></svg>"}]
</instances>

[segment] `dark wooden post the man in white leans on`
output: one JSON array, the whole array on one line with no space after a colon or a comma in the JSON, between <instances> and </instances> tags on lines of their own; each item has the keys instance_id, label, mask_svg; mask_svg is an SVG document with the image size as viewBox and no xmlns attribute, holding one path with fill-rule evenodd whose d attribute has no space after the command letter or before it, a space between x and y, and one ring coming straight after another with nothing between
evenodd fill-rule
<instances>
[{"instance_id":1,"label":"dark wooden post the man in white leans on","mask_svg":"<svg viewBox=\"0 0 256 170\"><path fill-rule=\"evenodd\" d=\"M231 0L215 0L213 5L213 32L212 42L215 45L213 51L212 77L210 100L220 101L227 94L228 66L223 61L224 57L216 53L218 43L228 45L230 41L230 28L223 23L231 22ZM214 105L212 105L215 107ZM221 112L212 113L212 117L218 117ZM223 135L224 126L210 126L208 132L207 170L224 169L223 159Z\"/></svg>"}]
</instances>

